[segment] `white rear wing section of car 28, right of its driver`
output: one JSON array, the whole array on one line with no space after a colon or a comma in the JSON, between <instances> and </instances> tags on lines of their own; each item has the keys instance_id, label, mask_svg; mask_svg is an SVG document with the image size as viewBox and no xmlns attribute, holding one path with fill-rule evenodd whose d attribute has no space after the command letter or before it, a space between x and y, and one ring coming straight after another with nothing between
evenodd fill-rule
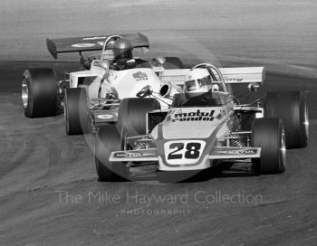
<instances>
[{"instance_id":1,"label":"white rear wing section of car 28, right of its driver","mask_svg":"<svg viewBox=\"0 0 317 246\"><path fill-rule=\"evenodd\" d=\"M229 84L263 83L265 79L264 67L219 68L219 71Z\"/></svg>"}]
</instances>

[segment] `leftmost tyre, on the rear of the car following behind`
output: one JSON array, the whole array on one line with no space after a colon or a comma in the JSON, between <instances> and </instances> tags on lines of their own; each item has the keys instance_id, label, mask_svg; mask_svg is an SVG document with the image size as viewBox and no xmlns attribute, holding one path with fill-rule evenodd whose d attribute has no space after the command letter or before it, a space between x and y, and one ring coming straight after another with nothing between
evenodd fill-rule
<instances>
[{"instance_id":1,"label":"leftmost tyre, on the rear of the car following behind","mask_svg":"<svg viewBox=\"0 0 317 246\"><path fill-rule=\"evenodd\" d=\"M24 116L27 118L56 116L60 100L55 72L48 68L25 70L22 102Z\"/></svg>"}]
</instances>

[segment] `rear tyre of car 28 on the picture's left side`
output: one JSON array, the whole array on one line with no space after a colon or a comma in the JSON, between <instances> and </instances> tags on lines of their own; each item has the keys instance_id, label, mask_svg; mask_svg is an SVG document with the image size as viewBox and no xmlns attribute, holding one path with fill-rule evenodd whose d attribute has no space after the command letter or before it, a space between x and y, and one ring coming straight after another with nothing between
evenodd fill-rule
<instances>
[{"instance_id":1,"label":"rear tyre of car 28 on the picture's left side","mask_svg":"<svg viewBox=\"0 0 317 246\"><path fill-rule=\"evenodd\" d=\"M122 99L118 112L118 127L124 128L128 136L146 134L147 113L160 109L157 99Z\"/></svg>"}]
</instances>

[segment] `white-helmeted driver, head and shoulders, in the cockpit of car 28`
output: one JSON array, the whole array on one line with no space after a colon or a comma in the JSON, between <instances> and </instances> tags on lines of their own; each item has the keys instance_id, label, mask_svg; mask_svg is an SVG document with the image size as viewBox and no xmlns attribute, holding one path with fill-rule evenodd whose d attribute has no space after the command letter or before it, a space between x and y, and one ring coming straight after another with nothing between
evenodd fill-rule
<instances>
[{"instance_id":1,"label":"white-helmeted driver, head and shoulders, in the cockpit of car 28","mask_svg":"<svg viewBox=\"0 0 317 246\"><path fill-rule=\"evenodd\" d=\"M213 80L207 69L193 69L189 71L184 85L185 100L182 107L216 106L216 99L212 97L212 91L219 86L213 84Z\"/></svg>"}]
</instances>

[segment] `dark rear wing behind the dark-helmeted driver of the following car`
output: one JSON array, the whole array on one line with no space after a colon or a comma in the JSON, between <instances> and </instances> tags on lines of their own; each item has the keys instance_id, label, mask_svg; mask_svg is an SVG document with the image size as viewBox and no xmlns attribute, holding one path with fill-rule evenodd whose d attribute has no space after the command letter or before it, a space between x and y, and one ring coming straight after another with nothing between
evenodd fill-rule
<instances>
[{"instance_id":1,"label":"dark rear wing behind the dark-helmeted driver of the following car","mask_svg":"<svg viewBox=\"0 0 317 246\"><path fill-rule=\"evenodd\" d=\"M130 40L133 48L146 47L149 48L149 39L141 33L120 34L122 38ZM110 35L90 36L90 37L75 37L61 39L46 39L46 47L52 54L53 58L57 59L57 54L62 52L91 52L101 51L105 40ZM111 49L113 43L109 43Z\"/></svg>"}]
</instances>

